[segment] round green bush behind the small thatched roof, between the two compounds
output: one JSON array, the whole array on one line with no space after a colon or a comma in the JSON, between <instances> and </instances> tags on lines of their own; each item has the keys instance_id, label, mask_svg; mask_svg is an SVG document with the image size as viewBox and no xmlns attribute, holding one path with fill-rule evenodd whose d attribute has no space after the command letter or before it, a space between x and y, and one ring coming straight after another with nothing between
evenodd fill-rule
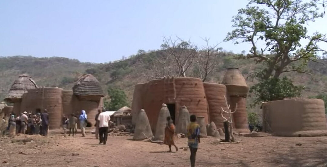
<instances>
[{"instance_id":1,"label":"round green bush behind the small thatched roof, between the two compounds","mask_svg":"<svg viewBox=\"0 0 327 167\"><path fill-rule=\"evenodd\" d=\"M108 88L108 95L110 96L110 102L106 102L105 107L109 111L117 111L128 105L127 96L123 90L110 87Z\"/></svg>"}]
</instances>

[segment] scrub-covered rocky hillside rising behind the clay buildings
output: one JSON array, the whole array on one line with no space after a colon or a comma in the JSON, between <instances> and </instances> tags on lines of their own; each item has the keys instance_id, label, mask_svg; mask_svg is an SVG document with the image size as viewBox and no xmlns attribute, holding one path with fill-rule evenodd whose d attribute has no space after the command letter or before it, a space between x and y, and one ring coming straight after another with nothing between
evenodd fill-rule
<instances>
[{"instance_id":1,"label":"scrub-covered rocky hillside rising behind the clay buildings","mask_svg":"<svg viewBox=\"0 0 327 167\"><path fill-rule=\"evenodd\" d=\"M151 62L153 57L162 55L162 51L154 51L132 55L128 59L116 62L95 64L82 63L76 59L62 57L36 58L32 56L0 57L0 99L3 99L9 91L14 80L23 73L28 73L39 86L71 89L78 77L84 73L94 75L102 84L104 92L107 93L109 86L123 89L129 99L132 100L134 85L151 79ZM226 68L238 67L242 71L249 86L255 83L249 75L253 70L262 68L252 60L234 59L233 53L224 52L216 60L217 66L208 76L206 82L220 83ZM319 60L327 64L327 59ZM318 93L327 93L327 66L318 63L309 63L311 76L299 73L287 73L295 84L305 86L303 97L307 98ZM188 76L198 77L197 67L191 67ZM106 97L108 99L108 96ZM248 98L248 104L252 98ZM250 106L249 106L250 107ZM248 110L251 110L250 108Z\"/></svg>"}]
</instances>

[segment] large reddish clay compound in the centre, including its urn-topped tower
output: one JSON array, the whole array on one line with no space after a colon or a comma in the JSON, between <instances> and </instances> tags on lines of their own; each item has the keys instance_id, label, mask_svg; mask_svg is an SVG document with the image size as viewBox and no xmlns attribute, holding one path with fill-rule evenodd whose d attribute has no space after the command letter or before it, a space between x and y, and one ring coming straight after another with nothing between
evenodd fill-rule
<instances>
[{"instance_id":1,"label":"large reddish clay compound in the centre, including its urn-topped tower","mask_svg":"<svg viewBox=\"0 0 327 167\"><path fill-rule=\"evenodd\" d=\"M228 103L231 109L238 104L238 114L233 117L235 131L248 132L245 98L249 87L238 68L229 68L223 84L203 83L199 78L164 78L136 84L132 101L132 123L137 122L137 115L144 109L152 131L156 124L162 104L166 104L174 123L177 124L179 111L186 106L189 114L203 117L203 122L215 122L217 128L223 128L221 107ZM224 115L227 116L227 115Z\"/></svg>"}]
</instances>

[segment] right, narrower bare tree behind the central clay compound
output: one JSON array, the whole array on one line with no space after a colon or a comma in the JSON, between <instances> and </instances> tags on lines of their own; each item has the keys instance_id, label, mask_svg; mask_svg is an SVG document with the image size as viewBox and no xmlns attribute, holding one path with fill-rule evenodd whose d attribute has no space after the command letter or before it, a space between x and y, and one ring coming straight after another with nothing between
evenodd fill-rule
<instances>
[{"instance_id":1,"label":"right, narrower bare tree behind the central clay compound","mask_svg":"<svg viewBox=\"0 0 327 167\"><path fill-rule=\"evenodd\" d=\"M203 38L202 38L203 39ZM209 38L210 39L210 38ZM210 46L209 39L203 39L206 42L206 45L202 48L202 51L198 52L197 56L197 66L199 70L200 78L202 82L205 82L208 78L208 75L216 68L218 65L217 57L219 55L218 44Z\"/></svg>"}]
</instances>

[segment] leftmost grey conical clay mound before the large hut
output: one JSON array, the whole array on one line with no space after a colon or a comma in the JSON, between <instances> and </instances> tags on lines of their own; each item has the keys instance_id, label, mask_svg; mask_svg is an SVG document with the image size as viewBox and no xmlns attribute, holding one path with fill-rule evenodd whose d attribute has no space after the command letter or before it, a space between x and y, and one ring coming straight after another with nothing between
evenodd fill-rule
<instances>
[{"instance_id":1,"label":"leftmost grey conical clay mound before the large hut","mask_svg":"<svg viewBox=\"0 0 327 167\"><path fill-rule=\"evenodd\" d=\"M146 116L146 112L142 109L139 112L138 119L136 121L133 140L144 140L146 137L152 137L149 119Z\"/></svg>"}]
</instances>

